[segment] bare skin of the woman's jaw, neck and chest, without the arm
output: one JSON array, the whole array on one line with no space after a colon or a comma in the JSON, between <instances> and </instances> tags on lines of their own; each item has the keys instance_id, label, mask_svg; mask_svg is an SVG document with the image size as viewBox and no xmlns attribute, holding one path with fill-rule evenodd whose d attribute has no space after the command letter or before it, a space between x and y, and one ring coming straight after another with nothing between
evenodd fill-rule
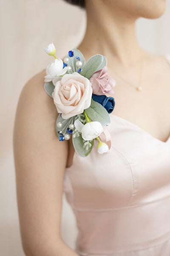
<instances>
[{"instance_id":1,"label":"bare skin of the woman's jaw, neck and chest, without the arm","mask_svg":"<svg viewBox=\"0 0 170 256\"><path fill-rule=\"evenodd\" d=\"M116 80L115 94L110 95L115 99L113 114L164 142L170 136L170 64L139 46L135 22L139 17L159 18L165 9L165 0L87 0L87 29L77 47L86 61L94 54L106 56L108 76Z\"/></svg>"}]
</instances>

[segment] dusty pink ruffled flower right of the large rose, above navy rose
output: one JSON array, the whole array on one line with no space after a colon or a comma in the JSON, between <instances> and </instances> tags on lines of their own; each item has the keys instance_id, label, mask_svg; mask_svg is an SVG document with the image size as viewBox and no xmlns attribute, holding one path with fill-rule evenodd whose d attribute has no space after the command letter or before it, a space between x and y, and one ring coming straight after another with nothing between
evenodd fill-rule
<instances>
[{"instance_id":1,"label":"dusty pink ruffled flower right of the large rose, above navy rose","mask_svg":"<svg viewBox=\"0 0 170 256\"><path fill-rule=\"evenodd\" d=\"M114 94L112 88L116 85L116 81L113 78L108 77L107 66L103 67L101 70L96 71L89 80L91 81L91 87L94 94Z\"/></svg>"}]
</instances>

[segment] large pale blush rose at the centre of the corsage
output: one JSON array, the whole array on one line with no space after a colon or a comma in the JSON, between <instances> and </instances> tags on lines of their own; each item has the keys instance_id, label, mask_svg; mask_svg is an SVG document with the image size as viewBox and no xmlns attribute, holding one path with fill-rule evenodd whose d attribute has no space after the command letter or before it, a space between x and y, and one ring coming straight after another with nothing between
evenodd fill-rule
<instances>
[{"instance_id":1,"label":"large pale blush rose at the centre of the corsage","mask_svg":"<svg viewBox=\"0 0 170 256\"><path fill-rule=\"evenodd\" d=\"M91 105L91 96L91 82L77 72L65 74L52 93L57 111L64 119L83 113Z\"/></svg>"}]
</instances>

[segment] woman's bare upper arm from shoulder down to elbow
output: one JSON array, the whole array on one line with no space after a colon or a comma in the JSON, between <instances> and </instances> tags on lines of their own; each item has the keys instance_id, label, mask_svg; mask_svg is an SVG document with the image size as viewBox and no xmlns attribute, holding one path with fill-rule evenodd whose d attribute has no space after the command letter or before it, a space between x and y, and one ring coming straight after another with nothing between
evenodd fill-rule
<instances>
[{"instance_id":1,"label":"woman's bare upper arm from shoulder down to elbow","mask_svg":"<svg viewBox=\"0 0 170 256\"><path fill-rule=\"evenodd\" d=\"M68 142L56 135L57 116L40 73L20 93L13 134L20 232L31 250L60 239Z\"/></svg>"}]
</instances>

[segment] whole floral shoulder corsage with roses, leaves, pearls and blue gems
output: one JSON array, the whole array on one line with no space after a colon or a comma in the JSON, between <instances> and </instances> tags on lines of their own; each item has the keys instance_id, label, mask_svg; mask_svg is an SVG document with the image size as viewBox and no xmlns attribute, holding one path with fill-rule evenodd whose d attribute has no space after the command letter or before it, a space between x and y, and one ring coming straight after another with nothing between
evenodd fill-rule
<instances>
[{"instance_id":1,"label":"whole floral shoulder corsage with roses, leaves, pearls and blue gems","mask_svg":"<svg viewBox=\"0 0 170 256\"><path fill-rule=\"evenodd\" d=\"M106 126L111 123L109 114L115 101L105 93L114 94L116 81L108 77L106 57L96 54L85 63L82 53L72 49L62 61L56 57L53 43L44 50L55 58L46 68L44 89L60 113L56 121L59 140L69 140L72 135L75 151L82 157L91 152L94 140L99 154L109 152Z\"/></svg>"}]
</instances>

